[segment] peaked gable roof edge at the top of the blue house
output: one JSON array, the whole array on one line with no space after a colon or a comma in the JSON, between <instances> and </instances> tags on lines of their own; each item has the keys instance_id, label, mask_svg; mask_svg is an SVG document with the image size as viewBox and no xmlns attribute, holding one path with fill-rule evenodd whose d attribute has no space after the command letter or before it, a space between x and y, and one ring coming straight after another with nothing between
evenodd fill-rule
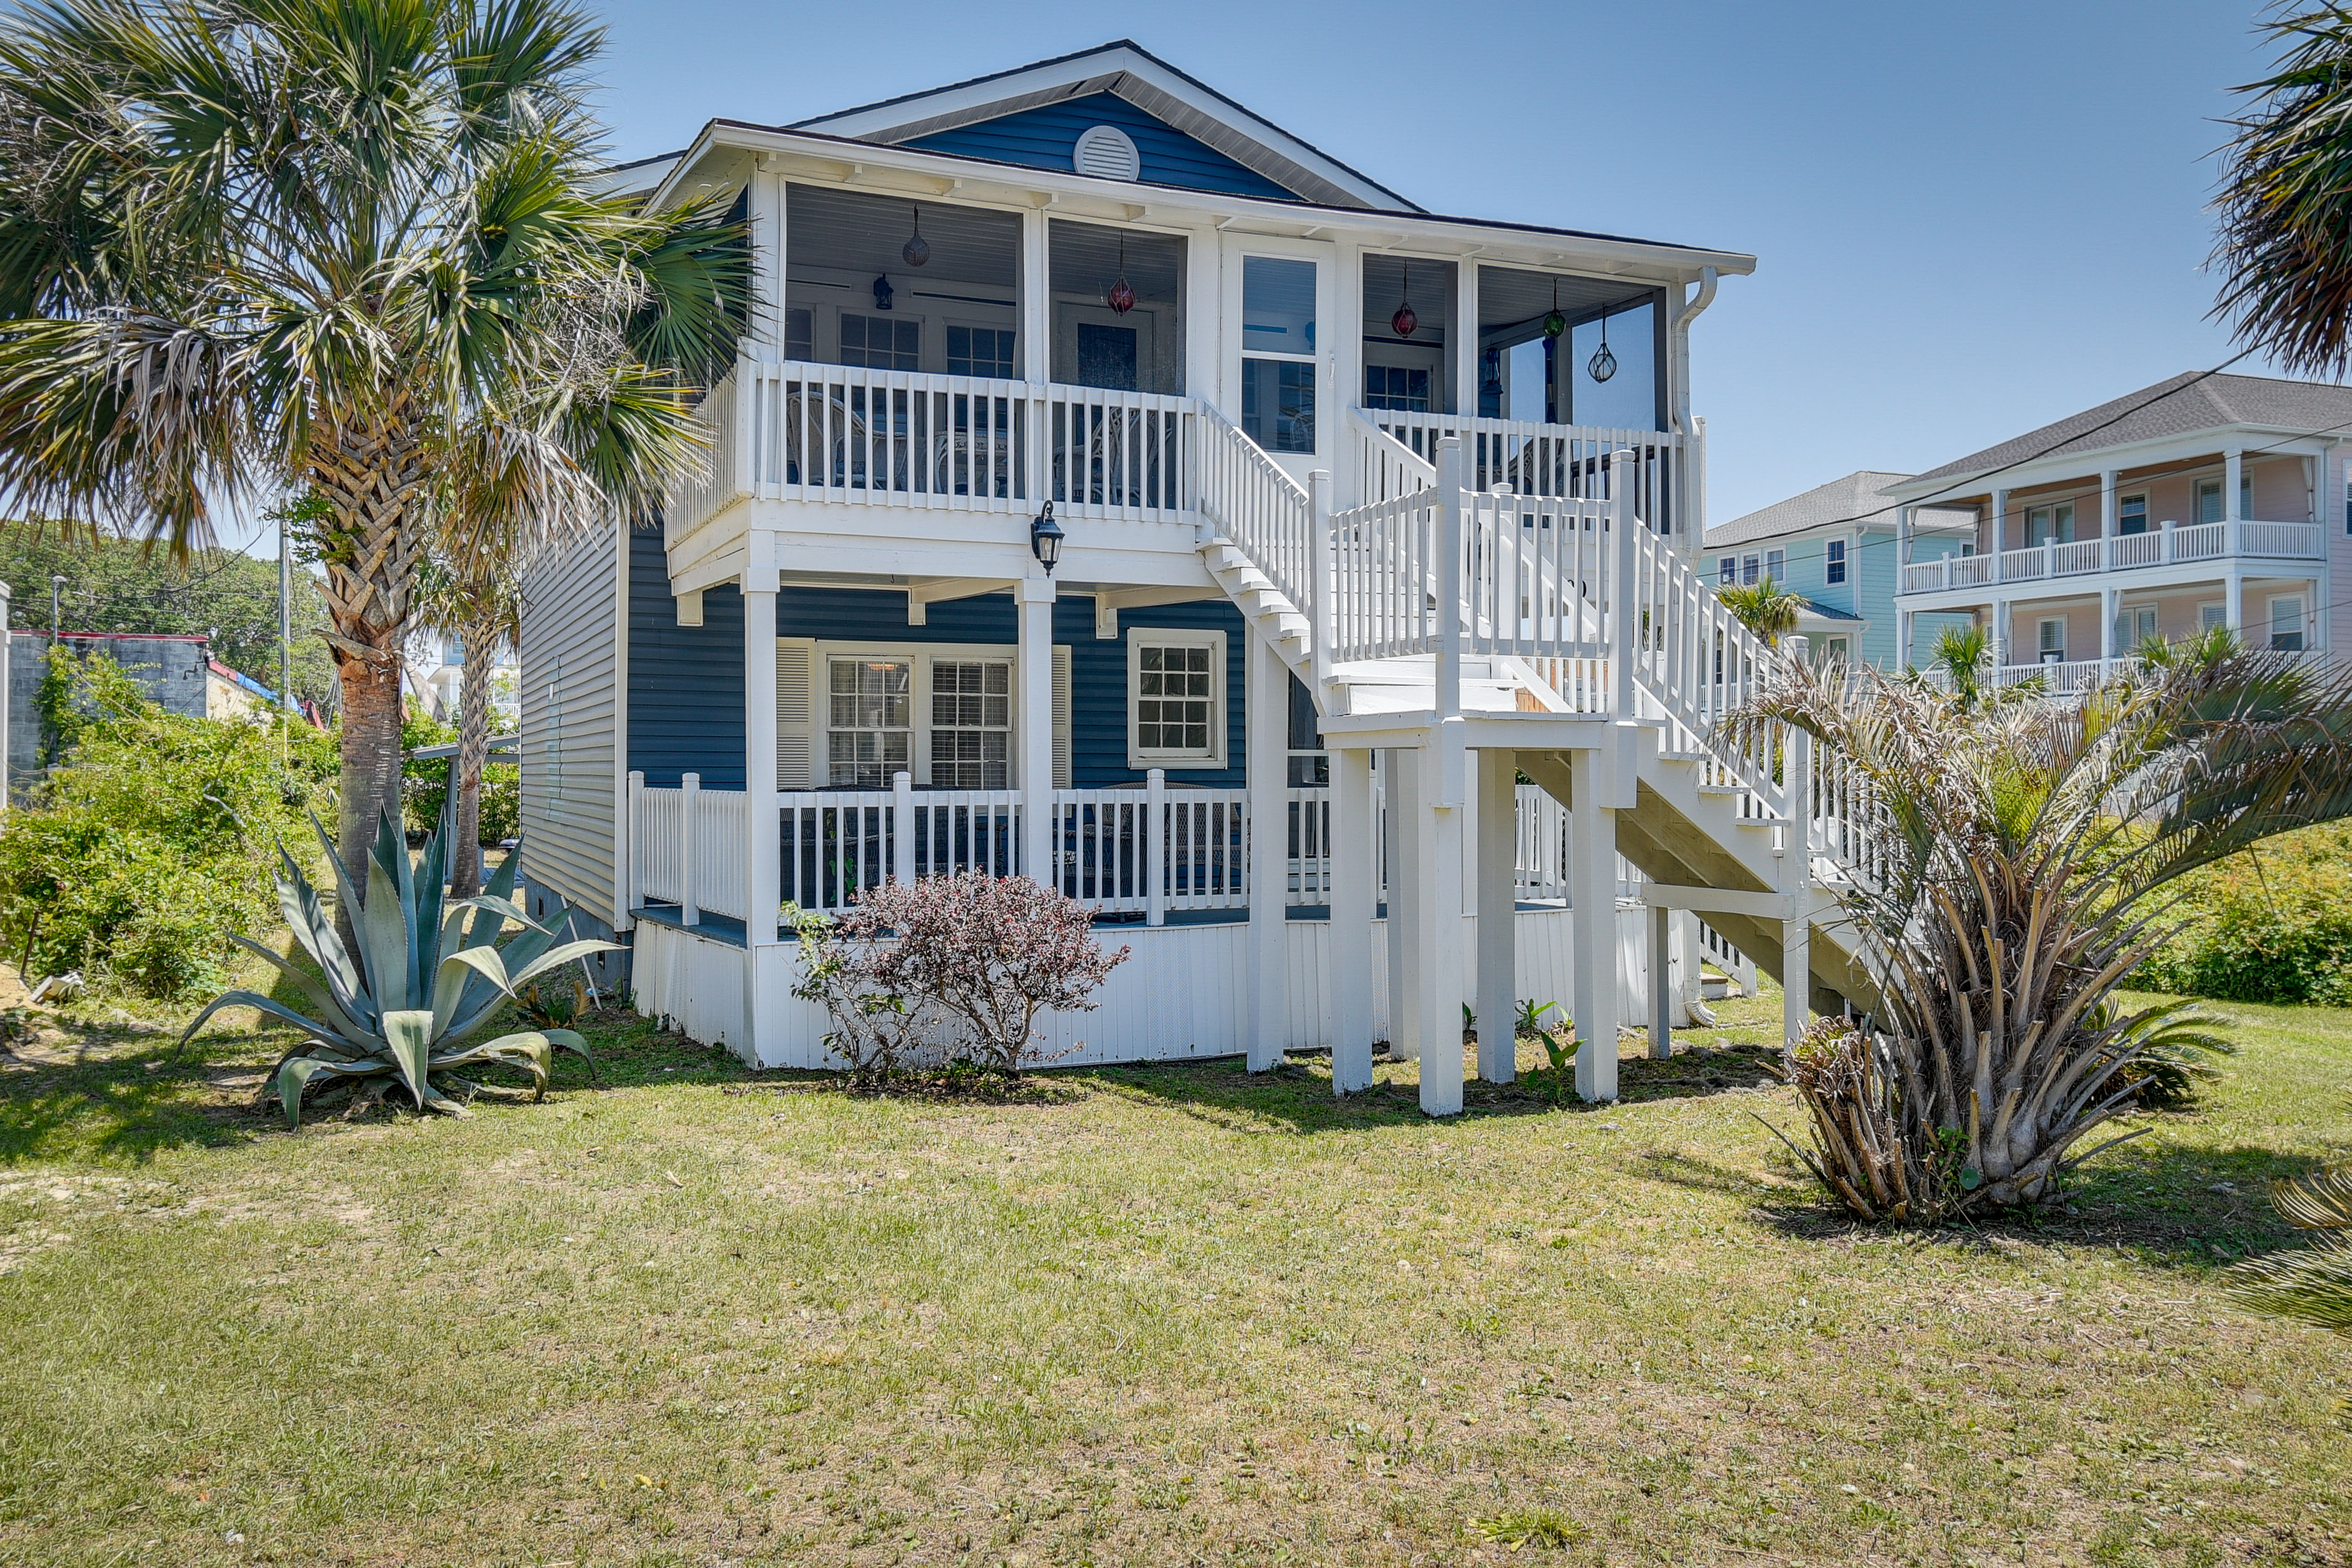
<instances>
[{"instance_id":1,"label":"peaked gable roof edge at the top of the blue house","mask_svg":"<svg viewBox=\"0 0 2352 1568\"><path fill-rule=\"evenodd\" d=\"M1058 54L967 82L863 103L786 129L826 132L891 146L929 141L988 120L1004 120L1068 99L1112 94L1270 186L1322 207L1383 207L1421 212L1388 186L1350 169L1310 141L1242 108L1207 82L1120 38L1077 54ZM943 148L962 150L962 148ZM1150 167L1150 155L1145 155ZM1171 183L1171 181L1155 181Z\"/></svg>"}]
</instances>

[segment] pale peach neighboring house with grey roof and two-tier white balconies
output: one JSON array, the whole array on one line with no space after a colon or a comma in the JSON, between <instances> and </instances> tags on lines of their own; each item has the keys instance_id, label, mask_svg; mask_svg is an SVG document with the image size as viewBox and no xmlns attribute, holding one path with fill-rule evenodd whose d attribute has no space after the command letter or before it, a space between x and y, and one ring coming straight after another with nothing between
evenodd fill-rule
<instances>
[{"instance_id":1,"label":"pale peach neighboring house with grey roof and two-tier white balconies","mask_svg":"<svg viewBox=\"0 0 2352 1568\"><path fill-rule=\"evenodd\" d=\"M1905 555L1898 637L1985 625L2004 679L2082 686L2147 639L2352 639L2352 388L2183 374L1886 487L1905 517L1966 508L1973 550Z\"/></svg>"}]
</instances>

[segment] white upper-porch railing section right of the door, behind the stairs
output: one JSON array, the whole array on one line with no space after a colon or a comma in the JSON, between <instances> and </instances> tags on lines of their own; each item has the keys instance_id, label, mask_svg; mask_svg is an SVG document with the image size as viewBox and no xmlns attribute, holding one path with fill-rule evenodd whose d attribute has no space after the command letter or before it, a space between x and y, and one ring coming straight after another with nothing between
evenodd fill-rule
<instances>
[{"instance_id":1,"label":"white upper-porch railing section right of the door, behind the stairs","mask_svg":"<svg viewBox=\"0 0 2352 1568\"><path fill-rule=\"evenodd\" d=\"M1672 531L1682 510L1672 496L1682 437L1668 430L1611 430L1604 425L1543 425L1517 418L1463 418L1411 409L1369 409L1376 428L1435 468L1437 447L1463 437L1463 487L1508 487L1519 496L1606 501L1621 489L1637 517ZM1364 491L1374 498L1374 491Z\"/></svg>"}]
</instances>

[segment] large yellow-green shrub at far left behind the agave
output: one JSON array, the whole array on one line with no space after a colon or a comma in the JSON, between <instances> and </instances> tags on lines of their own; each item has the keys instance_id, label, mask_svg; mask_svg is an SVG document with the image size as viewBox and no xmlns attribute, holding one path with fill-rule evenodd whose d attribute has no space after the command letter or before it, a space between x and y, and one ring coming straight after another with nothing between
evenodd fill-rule
<instances>
[{"instance_id":1,"label":"large yellow-green shrub at far left behind the agave","mask_svg":"<svg viewBox=\"0 0 2352 1568\"><path fill-rule=\"evenodd\" d=\"M183 997L226 978L223 926L275 924L270 846L334 809L334 738L169 715L108 658L49 656L59 764L0 832L0 943L26 973Z\"/></svg>"}]
</instances>

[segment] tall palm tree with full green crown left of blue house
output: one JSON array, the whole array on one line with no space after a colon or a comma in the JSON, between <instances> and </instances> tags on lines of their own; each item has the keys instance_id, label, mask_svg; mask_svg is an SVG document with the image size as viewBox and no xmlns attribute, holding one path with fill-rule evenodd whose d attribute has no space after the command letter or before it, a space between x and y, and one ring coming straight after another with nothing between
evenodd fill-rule
<instances>
[{"instance_id":1,"label":"tall palm tree with full green crown left of blue house","mask_svg":"<svg viewBox=\"0 0 2352 1568\"><path fill-rule=\"evenodd\" d=\"M739 228L593 193L600 42L560 0L0 21L0 487L174 550L223 496L320 503L353 863L466 465L524 531L642 512L743 322Z\"/></svg>"}]
</instances>

